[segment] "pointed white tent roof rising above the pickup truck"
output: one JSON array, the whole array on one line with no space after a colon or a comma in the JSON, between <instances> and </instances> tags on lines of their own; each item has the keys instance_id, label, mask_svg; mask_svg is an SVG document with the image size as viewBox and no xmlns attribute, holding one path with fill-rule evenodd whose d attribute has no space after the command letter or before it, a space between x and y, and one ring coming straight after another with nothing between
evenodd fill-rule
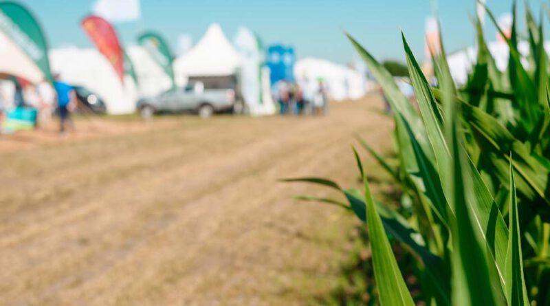
<instances>
[{"instance_id":1,"label":"pointed white tent roof rising above the pickup truck","mask_svg":"<svg viewBox=\"0 0 550 306\"><path fill-rule=\"evenodd\" d=\"M174 69L178 76L228 76L241 63L219 24L212 23L197 45L174 61Z\"/></svg>"}]
</instances>

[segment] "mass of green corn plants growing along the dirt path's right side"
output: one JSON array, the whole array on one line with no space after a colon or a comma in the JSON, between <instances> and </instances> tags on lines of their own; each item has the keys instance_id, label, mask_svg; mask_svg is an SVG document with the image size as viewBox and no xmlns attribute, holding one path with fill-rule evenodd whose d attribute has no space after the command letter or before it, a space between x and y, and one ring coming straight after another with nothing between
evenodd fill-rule
<instances>
[{"instance_id":1,"label":"mass of green corn plants growing along the dirt path's right side","mask_svg":"<svg viewBox=\"0 0 550 306\"><path fill-rule=\"evenodd\" d=\"M299 199L340 206L366 223L381 305L415 304L392 241L415 258L408 271L419 280L417 300L431 305L550 305L549 63L542 17L537 24L526 6L530 52L524 56L518 51L515 3L513 12L507 71L497 69L476 21L478 56L463 87L452 81L443 43L432 58L436 88L403 36L417 108L348 35L393 109L399 166L358 140L412 199L410 212L375 201L355 149L363 191L341 188L329 179L287 182L338 190L345 201Z\"/></svg>"}]
</instances>

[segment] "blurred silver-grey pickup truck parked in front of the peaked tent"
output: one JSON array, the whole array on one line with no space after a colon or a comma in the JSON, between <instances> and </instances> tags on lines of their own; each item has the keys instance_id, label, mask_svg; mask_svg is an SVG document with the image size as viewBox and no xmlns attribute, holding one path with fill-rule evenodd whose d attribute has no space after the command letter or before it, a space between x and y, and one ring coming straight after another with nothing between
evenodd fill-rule
<instances>
[{"instance_id":1,"label":"blurred silver-grey pickup truck parked in front of the peaked tent","mask_svg":"<svg viewBox=\"0 0 550 306\"><path fill-rule=\"evenodd\" d=\"M205 89L200 82L184 88L170 89L158 96L137 101L142 117L150 118L155 113L198 113L208 118L213 113L232 112L239 109L233 89Z\"/></svg>"}]
</instances>

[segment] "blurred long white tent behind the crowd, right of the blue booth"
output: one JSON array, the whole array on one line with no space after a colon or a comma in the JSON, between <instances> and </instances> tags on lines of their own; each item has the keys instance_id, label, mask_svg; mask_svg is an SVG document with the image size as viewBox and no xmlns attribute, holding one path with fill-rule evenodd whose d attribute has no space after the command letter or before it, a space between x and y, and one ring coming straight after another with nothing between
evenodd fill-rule
<instances>
[{"instance_id":1,"label":"blurred long white tent behind the crowd, right of the blue booth","mask_svg":"<svg viewBox=\"0 0 550 306\"><path fill-rule=\"evenodd\" d=\"M306 89L322 79L329 98L358 99L366 94L364 77L354 69L320 58L304 58L294 65L294 76Z\"/></svg>"}]
</instances>

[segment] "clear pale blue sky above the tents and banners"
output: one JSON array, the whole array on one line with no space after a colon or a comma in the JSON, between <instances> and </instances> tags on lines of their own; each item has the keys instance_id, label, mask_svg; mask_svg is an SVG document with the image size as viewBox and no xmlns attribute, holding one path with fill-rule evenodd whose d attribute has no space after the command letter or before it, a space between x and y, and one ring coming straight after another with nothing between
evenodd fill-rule
<instances>
[{"instance_id":1,"label":"clear pale blue sky above the tents and banners","mask_svg":"<svg viewBox=\"0 0 550 306\"><path fill-rule=\"evenodd\" d=\"M91 11L94 0L20 1L39 18L53 47L91 46L79 21ZM538 14L539 1L531 2L537 4L531 6ZM522 1L519 3L522 8ZM510 10L511 0L487 0L487 5L500 15ZM401 60L402 29L415 54L423 57L424 21L431 11L430 0L141 0L141 6L140 21L115 25L124 44L134 44L141 30L157 30L174 49L180 34L189 34L196 42L215 21L230 39L239 25L245 25L266 44L294 45L298 57L316 56L338 63L349 63L354 56L343 30L377 58ZM472 45L469 15L474 12L475 0L439 0L448 50ZM488 23L487 31L494 37L494 28Z\"/></svg>"}]
</instances>

